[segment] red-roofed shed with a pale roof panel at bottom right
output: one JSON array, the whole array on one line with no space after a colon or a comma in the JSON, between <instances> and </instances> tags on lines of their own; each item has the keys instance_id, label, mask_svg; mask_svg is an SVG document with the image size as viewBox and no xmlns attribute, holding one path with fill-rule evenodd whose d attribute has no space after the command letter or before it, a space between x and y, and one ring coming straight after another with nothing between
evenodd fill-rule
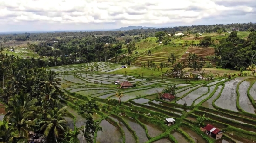
<instances>
[{"instance_id":1,"label":"red-roofed shed with a pale roof panel at bottom right","mask_svg":"<svg viewBox=\"0 0 256 143\"><path fill-rule=\"evenodd\" d=\"M212 137L214 139L220 139L223 136L223 131L221 131L218 128L215 128L211 124L207 124L203 129L205 130L206 135L209 135L210 137Z\"/></svg>"}]
</instances>

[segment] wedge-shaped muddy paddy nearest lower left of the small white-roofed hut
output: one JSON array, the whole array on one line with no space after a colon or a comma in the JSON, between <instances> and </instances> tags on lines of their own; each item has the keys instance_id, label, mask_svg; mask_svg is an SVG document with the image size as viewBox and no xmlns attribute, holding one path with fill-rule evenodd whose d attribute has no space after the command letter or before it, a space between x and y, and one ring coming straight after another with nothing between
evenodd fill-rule
<instances>
[{"instance_id":1,"label":"wedge-shaped muddy paddy nearest lower left of the small white-roofed hut","mask_svg":"<svg viewBox=\"0 0 256 143\"><path fill-rule=\"evenodd\" d=\"M143 119L139 119L143 124L146 125L147 129L148 129L148 134L150 137L156 137L160 134L163 133L162 129L157 127L156 125L154 124L151 124Z\"/></svg>"}]
</instances>

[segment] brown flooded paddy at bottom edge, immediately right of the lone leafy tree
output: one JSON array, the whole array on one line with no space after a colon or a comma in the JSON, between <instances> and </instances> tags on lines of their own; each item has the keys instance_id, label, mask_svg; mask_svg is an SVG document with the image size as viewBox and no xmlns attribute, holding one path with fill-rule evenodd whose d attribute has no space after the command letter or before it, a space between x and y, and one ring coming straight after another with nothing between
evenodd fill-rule
<instances>
[{"instance_id":1,"label":"brown flooded paddy at bottom edge, immediately right of the lone leafy tree","mask_svg":"<svg viewBox=\"0 0 256 143\"><path fill-rule=\"evenodd\" d=\"M122 136L117 127L106 120L102 120L102 131L97 132L96 143L122 143Z\"/></svg>"}]
</instances>

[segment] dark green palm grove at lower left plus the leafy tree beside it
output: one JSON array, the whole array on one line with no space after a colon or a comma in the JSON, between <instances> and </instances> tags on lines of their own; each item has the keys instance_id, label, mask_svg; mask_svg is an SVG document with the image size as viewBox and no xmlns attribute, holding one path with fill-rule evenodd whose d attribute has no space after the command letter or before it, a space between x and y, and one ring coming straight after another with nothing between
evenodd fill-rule
<instances>
[{"instance_id":1,"label":"dark green palm grove at lower left plus the leafy tree beside it","mask_svg":"<svg viewBox=\"0 0 256 143\"><path fill-rule=\"evenodd\" d=\"M27 66L22 59L3 54L0 51L1 88L0 101L6 104L7 114L0 121L1 143L24 143L29 138L39 138L46 143L79 143L78 129L67 127L67 111L58 96L60 78L54 71L37 68L32 63ZM86 109L86 110L85 110ZM95 100L79 103L78 113L86 116L87 128L85 137L93 142L93 133L101 127L92 119L92 109L98 110ZM86 112L85 112L86 111ZM33 132L33 133L32 133Z\"/></svg>"}]
</instances>

